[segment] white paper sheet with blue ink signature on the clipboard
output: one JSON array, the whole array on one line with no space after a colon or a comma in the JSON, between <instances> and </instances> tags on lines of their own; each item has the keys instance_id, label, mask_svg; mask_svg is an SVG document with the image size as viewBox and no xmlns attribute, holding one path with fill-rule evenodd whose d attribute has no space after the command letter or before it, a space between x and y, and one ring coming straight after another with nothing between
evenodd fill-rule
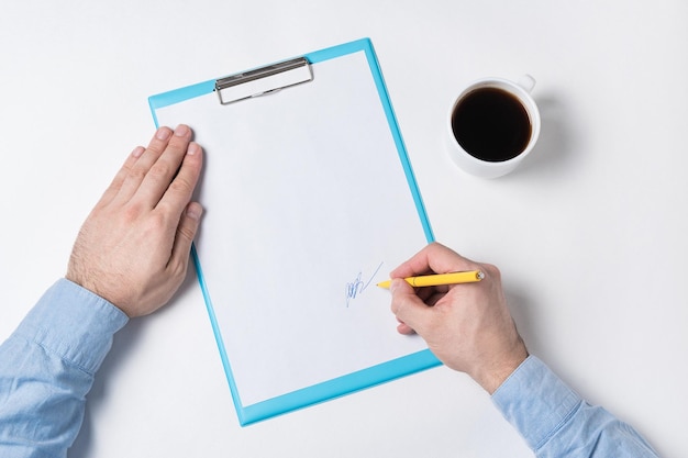
<instances>
[{"instance_id":1,"label":"white paper sheet with blue ink signature on the clipboard","mask_svg":"<svg viewBox=\"0 0 688 458\"><path fill-rule=\"evenodd\" d=\"M375 286L426 238L363 52L312 82L156 110L204 148L196 242L244 405L424 349Z\"/></svg>"}]
</instances>

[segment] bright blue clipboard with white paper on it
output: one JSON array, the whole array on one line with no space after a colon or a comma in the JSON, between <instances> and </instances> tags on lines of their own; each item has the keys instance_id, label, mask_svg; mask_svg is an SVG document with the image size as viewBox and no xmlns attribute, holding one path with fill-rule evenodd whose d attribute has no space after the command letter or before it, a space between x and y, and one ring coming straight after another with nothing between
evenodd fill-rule
<instances>
[{"instance_id":1,"label":"bright blue clipboard with white paper on it","mask_svg":"<svg viewBox=\"0 0 688 458\"><path fill-rule=\"evenodd\" d=\"M348 67L357 67L356 72L340 78L336 81L340 86L332 83L326 87L328 78L332 78L330 75ZM322 89L317 85L321 85ZM310 97L310 104L298 102L299 98L304 97ZM331 103L325 100L329 98L333 98ZM196 139L204 147L206 175L198 199L207 212L201 233L192 248L192 257L242 425L441 365L420 337L411 337L409 340L408 336L389 331L395 328L395 320L389 312L389 297L374 287L376 281L386 279L396 267L392 262L404 260L415 249L432 242L434 236L368 38L156 94L149 98L149 105L156 125L187 123L193 129ZM281 110L281 118L276 114L276 107ZM222 116L226 116L225 121L221 120ZM270 121L271 116L275 119ZM335 121L339 116L339 121L330 123L329 116ZM271 122L268 133L263 127L254 129L256 124L268 122ZM300 122L304 123L302 130ZM282 132L282 124L290 125L284 126L285 132L287 129L290 131ZM347 134L342 133L342 124L352 124ZM328 129L332 132L321 132ZM222 137L225 130L232 133ZM293 130L299 132L293 133ZM214 138L213 133L217 132L220 133ZM333 138L336 135L340 136ZM235 144L226 147L225 143L231 142ZM348 145L347 142L353 143ZM373 145L369 148L368 143ZM256 150L246 152L245 148ZM306 149L312 149L313 155L303 163L295 164L297 159L282 157L285 150L290 152L293 158L300 157ZM332 154L323 154L323 149ZM392 150L393 157L381 158L380 166L376 166L377 157L382 155L378 152ZM343 158L349 155L351 160L355 160L354 166L349 166ZM256 156L265 158L257 159ZM225 165L223 160L231 163ZM219 170L222 167L224 171ZM392 171L388 170L390 168ZM340 170L343 171L340 174ZM234 175L222 176L225 172ZM352 175L355 177L352 178ZM274 185L276 182L279 185ZM270 186L277 188L270 189ZM340 198L346 201L339 202ZM391 203L384 206L384 214L378 215L377 203L381 201ZM296 203L290 206L290 202ZM323 215L326 212L332 212L332 215ZM299 214L295 216L295 213ZM315 223L308 222L311 215L314 215ZM332 223L335 220L336 224ZM376 223L378 220L379 223ZM390 235L388 228L370 232L360 228L368 222L385 225L389 220L393 220L389 224L399 228L399 235ZM319 226L322 231L312 226ZM328 231L332 234L329 235ZM349 241L348 234L352 232L360 232L366 241ZM293 249L292 254L277 254L287 249L285 239L280 238L285 236L284 233L287 233L289 241L303 236L304 242L295 242L295 245L300 244L300 248L290 248ZM270 237L276 237L273 245ZM302 254L303 246L308 250L319 244L320 250L315 255ZM325 246L323 244L330 244L330 247L322 249ZM377 253L378 247L385 244L388 246L379 248L381 252ZM225 245L231 246L225 249ZM331 250L336 253L332 255L333 258L328 258ZM363 259L369 253L374 261ZM309 298L311 286L302 284L297 295L289 297L288 292L295 289L295 283L299 283L299 277L281 277L291 275L292 269L278 267L276 271L284 273L277 276L278 280L274 280L275 275L268 282L259 278L267 275L264 267L269 268L273 264L270 256L286 258L295 254L302 257L303 262L311 262L303 266L320 266L309 272L329 272L313 281L313 288L323 283L323 294ZM378 259L381 259L379 264ZM255 265L252 266L254 260ZM348 268L346 264L349 261L351 266L358 266L355 264L357 261L365 266L360 269L351 267L351 281L342 284L341 298L332 293L333 300L320 302L319 298L329 298L333 289L340 294L342 279L337 279L339 283L334 286L324 283L330 280L330 272ZM236 264L242 266L237 267ZM332 273L332 277L336 275ZM228 284L235 278L238 278L235 284ZM284 283L280 283L281 280ZM249 292L236 295L243 287L248 289L247 284L252 284L253 291L266 294L259 304L248 303L253 299ZM279 290L269 291L273 287ZM284 299L277 294L284 294ZM362 302L357 301L362 300L368 301L366 306L358 306ZM279 303L269 309L274 302ZM307 303L310 305L304 305ZM293 314L300 313L301 305L304 309L303 316L293 317ZM289 312L285 312L287 309ZM323 312L323 309L331 311ZM279 321L274 320L274 316L279 317L280 313L285 313L285 320L293 320L289 327L300 331L270 337L280 332L279 324L269 332L263 327L268 329L273 325L271 321ZM300 327L310 320L313 322ZM339 326L332 324L332 321L351 327L337 336ZM329 331L322 329L322 323L330 323L326 324ZM265 344L264 337L257 336L262 332L267 333L268 340L275 339L266 345L266 349L257 348ZM380 334L380 342L377 342L376 333ZM328 349L330 335L332 349ZM367 342L359 342L365 339ZM246 349L247 346L253 348ZM293 350L289 350L290 347ZM277 351L284 354L275 356ZM376 351L379 355L370 356L370 353ZM291 362L279 366L291 357ZM340 364L342 368L337 366ZM270 384L271 381L278 383L282 379L287 388Z\"/></svg>"}]
</instances>

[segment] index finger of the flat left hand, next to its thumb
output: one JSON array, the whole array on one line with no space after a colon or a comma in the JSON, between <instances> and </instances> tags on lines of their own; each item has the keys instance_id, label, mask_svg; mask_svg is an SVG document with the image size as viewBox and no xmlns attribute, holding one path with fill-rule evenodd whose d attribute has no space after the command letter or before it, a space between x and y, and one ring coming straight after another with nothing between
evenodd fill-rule
<instances>
[{"instance_id":1,"label":"index finger of the flat left hand, next to its thumb","mask_svg":"<svg viewBox=\"0 0 688 458\"><path fill-rule=\"evenodd\" d=\"M167 183L156 209L177 217L191 200L203 165L203 154L197 143L190 143L177 176Z\"/></svg>"}]
</instances>

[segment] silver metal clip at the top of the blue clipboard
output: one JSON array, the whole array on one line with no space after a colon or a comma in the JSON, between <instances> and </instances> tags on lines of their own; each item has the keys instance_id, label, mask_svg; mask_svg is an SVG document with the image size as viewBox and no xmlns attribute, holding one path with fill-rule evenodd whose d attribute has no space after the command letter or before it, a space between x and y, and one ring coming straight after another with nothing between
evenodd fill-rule
<instances>
[{"instance_id":1,"label":"silver metal clip at the top of the blue clipboard","mask_svg":"<svg viewBox=\"0 0 688 458\"><path fill-rule=\"evenodd\" d=\"M220 78L215 80L215 92L220 103L226 105L312 80L310 63L306 57L298 57Z\"/></svg>"}]
</instances>

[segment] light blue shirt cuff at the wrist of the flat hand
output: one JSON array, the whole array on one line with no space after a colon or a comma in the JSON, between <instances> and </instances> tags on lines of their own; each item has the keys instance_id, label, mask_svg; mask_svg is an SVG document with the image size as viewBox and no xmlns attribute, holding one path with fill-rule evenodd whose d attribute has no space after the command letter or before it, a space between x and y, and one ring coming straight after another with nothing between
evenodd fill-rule
<instances>
[{"instance_id":1,"label":"light blue shirt cuff at the wrist of the flat hand","mask_svg":"<svg viewBox=\"0 0 688 458\"><path fill-rule=\"evenodd\" d=\"M107 300L59 279L29 312L14 334L95 375L129 317Z\"/></svg>"}]
</instances>

